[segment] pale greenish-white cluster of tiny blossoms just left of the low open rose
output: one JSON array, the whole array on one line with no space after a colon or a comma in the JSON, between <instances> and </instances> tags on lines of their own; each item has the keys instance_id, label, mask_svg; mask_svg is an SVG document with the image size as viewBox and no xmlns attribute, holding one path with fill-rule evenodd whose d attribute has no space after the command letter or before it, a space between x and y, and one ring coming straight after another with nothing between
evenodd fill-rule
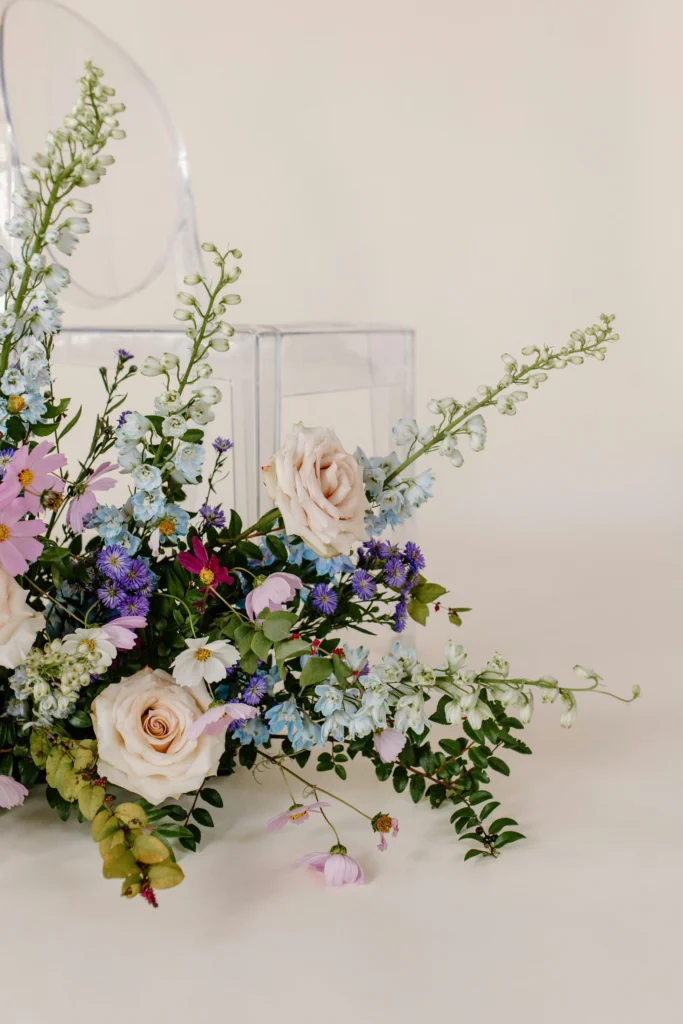
<instances>
[{"instance_id":1,"label":"pale greenish-white cluster of tiny blossoms just left of the low open rose","mask_svg":"<svg viewBox=\"0 0 683 1024\"><path fill-rule=\"evenodd\" d=\"M8 712L41 725L69 718L81 689L101 668L101 654L94 644L74 648L66 640L51 640L42 650L34 647L10 677L15 699Z\"/></svg>"}]
</instances>

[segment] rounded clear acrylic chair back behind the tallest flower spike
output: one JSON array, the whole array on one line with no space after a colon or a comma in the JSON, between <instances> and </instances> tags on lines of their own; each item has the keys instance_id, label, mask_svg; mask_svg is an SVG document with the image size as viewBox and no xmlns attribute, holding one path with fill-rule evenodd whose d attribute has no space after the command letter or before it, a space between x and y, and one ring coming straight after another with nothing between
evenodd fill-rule
<instances>
[{"instance_id":1,"label":"rounded clear acrylic chair back behind the tallest flower spike","mask_svg":"<svg viewBox=\"0 0 683 1024\"><path fill-rule=\"evenodd\" d=\"M0 233L22 161L44 147L71 111L76 79L91 59L126 103L127 138L112 147L117 164L97 185L91 233L69 261L70 300L112 305L162 275L169 295L177 291L185 274L201 270L202 256L185 150L156 88L120 46L58 3L4 0L0 15Z\"/></svg>"}]
</instances>

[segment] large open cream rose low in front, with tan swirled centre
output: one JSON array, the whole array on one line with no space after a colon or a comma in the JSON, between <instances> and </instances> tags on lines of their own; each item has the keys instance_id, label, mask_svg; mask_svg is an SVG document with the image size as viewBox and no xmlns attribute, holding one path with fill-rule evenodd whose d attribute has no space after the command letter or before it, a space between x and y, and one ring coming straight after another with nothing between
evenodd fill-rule
<instances>
[{"instance_id":1,"label":"large open cream rose low in front, with tan swirled centre","mask_svg":"<svg viewBox=\"0 0 683 1024\"><path fill-rule=\"evenodd\" d=\"M187 736L210 703L204 683L187 689L160 669L112 683L92 702L97 771L153 804L199 788L225 749L224 735Z\"/></svg>"}]
</instances>

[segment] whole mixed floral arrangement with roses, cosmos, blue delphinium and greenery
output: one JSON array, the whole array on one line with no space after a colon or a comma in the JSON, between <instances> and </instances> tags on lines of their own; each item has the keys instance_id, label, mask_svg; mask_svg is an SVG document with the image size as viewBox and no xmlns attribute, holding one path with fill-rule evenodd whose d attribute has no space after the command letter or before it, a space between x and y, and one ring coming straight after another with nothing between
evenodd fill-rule
<instances>
[{"instance_id":1,"label":"whole mixed floral arrangement with roses, cosmos, blue delphinium and greenery","mask_svg":"<svg viewBox=\"0 0 683 1024\"><path fill-rule=\"evenodd\" d=\"M69 466L63 439L80 410L55 394L50 359L70 275L50 253L69 256L88 231L92 208L75 191L114 163L109 148L125 135L114 96L86 65L73 112L13 197L16 252L0 249L0 806L40 785L62 820L91 823L104 877L154 906L183 879L178 857L213 825L209 808L222 806L207 780L238 765L282 775L268 831L314 815L329 826L331 846L306 862L330 885L364 881L333 806L362 815L384 851L398 821L383 807L404 790L444 809L466 860L493 860L523 839L489 786L509 774L504 758L530 754L520 734L535 696L556 701L569 727L579 693L607 691L582 666L574 685L513 674L498 653L473 667L453 641L439 665L422 662L400 635L447 591L430 582L417 544L392 531L432 496L423 457L461 466L463 443L484 447L484 410L514 416L552 372L602 360L618 337L613 317L559 348L505 354L498 383L430 402L427 426L401 421L400 455L352 455L332 430L298 424L263 468L272 510L245 525L215 497L231 443L205 444L221 400L210 357L230 343L222 317L240 301L229 289L242 254L205 244L216 280L186 278L175 311L186 356L162 353L138 370L120 350L100 370L88 454ZM136 373L159 382L154 408L125 408ZM108 504L120 479L128 496ZM454 627L466 610L443 606ZM349 638L378 629L398 639L371 664ZM392 783L368 811L318 781L342 782L358 756Z\"/></svg>"}]
</instances>

